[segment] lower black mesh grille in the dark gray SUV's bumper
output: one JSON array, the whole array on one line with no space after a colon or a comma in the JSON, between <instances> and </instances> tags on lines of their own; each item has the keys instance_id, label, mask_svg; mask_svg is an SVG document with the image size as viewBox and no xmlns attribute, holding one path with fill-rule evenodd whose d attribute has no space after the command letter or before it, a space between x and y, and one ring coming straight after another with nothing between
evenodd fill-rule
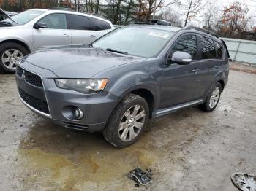
<instances>
[{"instance_id":1,"label":"lower black mesh grille in the dark gray SUV's bumper","mask_svg":"<svg viewBox=\"0 0 256 191\"><path fill-rule=\"evenodd\" d=\"M39 110L40 112L43 112L45 114L50 114L46 101L40 100L38 98L34 98L32 95L29 95L28 93L24 92L20 88L18 88L18 91L20 94L20 98L22 98L23 101L26 102L26 104L29 104L29 106Z\"/></svg>"}]
</instances>

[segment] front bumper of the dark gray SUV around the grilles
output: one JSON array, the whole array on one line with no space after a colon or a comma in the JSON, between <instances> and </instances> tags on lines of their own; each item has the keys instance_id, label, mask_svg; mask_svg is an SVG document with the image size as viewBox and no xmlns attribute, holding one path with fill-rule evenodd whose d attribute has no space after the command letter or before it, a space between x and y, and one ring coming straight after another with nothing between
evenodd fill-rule
<instances>
[{"instance_id":1,"label":"front bumper of the dark gray SUV around the grilles","mask_svg":"<svg viewBox=\"0 0 256 191\"><path fill-rule=\"evenodd\" d=\"M16 72L15 78L20 99L33 112L67 128L89 130L90 132L101 131L105 128L111 112L118 103L116 95L106 92L86 95L73 90L60 89L56 87L54 78L57 76L53 72L28 62L23 62L19 67L20 74ZM22 70L27 72L21 74ZM41 87L38 87L37 83L34 84L31 79L26 79L26 75L30 78L33 76L30 73L40 77ZM84 114L83 118L69 120L64 117L65 106L78 107Z\"/></svg>"}]
</instances>

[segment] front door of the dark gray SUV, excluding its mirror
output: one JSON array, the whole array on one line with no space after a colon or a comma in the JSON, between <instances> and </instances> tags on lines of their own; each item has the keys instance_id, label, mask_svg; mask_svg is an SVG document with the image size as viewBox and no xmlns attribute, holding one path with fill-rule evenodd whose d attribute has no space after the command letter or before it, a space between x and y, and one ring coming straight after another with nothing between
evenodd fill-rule
<instances>
[{"instance_id":1,"label":"front door of the dark gray SUV, excluding its mirror","mask_svg":"<svg viewBox=\"0 0 256 191\"><path fill-rule=\"evenodd\" d=\"M192 55L192 62L187 65L170 62L165 66L164 78L161 82L160 108L192 101L199 80L200 62L197 61L197 35L181 35L171 47L168 61L171 61L170 59L176 51Z\"/></svg>"}]
</instances>

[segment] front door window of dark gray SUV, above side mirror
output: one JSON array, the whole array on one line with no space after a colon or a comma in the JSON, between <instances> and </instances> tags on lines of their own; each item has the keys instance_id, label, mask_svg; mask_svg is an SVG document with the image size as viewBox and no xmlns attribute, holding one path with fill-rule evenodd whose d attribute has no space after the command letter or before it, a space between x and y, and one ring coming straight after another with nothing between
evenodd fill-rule
<instances>
[{"instance_id":1,"label":"front door window of dark gray SUV, above side mirror","mask_svg":"<svg viewBox=\"0 0 256 191\"><path fill-rule=\"evenodd\" d=\"M172 49L173 53L176 51L187 52L195 60L197 58L197 36L189 34L178 39Z\"/></svg>"}]
</instances>

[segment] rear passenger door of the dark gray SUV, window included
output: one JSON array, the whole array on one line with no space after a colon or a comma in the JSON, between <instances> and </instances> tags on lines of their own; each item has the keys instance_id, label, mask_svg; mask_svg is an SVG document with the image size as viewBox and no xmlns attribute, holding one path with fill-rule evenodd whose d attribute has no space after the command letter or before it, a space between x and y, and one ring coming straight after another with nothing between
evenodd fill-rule
<instances>
[{"instance_id":1,"label":"rear passenger door of the dark gray SUV, window included","mask_svg":"<svg viewBox=\"0 0 256 191\"><path fill-rule=\"evenodd\" d=\"M222 65L223 46L217 47L216 50L214 39L209 36L200 36L200 77L201 80L197 85L195 97L202 98L207 90L211 88L212 83L217 76L219 67ZM221 44L219 44L221 45Z\"/></svg>"}]
</instances>

